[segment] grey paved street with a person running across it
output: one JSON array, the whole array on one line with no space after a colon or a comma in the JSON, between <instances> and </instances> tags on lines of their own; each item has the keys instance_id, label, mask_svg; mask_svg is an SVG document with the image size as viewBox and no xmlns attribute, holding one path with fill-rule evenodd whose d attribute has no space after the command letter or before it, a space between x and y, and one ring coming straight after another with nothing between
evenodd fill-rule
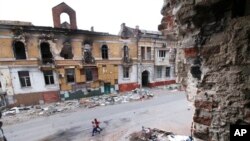
<instances>
[{"instance_id":1,"label":"grey paved street with a person running across it","mask_svg":"<svg viewBox=\"0 0 250 141\"><path fill-rule=\"evenodd\" d=\"M10 141L122 141L142 126L190 135L193 110L183 92L154 90L150 100L75 109L48 117L3 126ZM91 136L91 120L99 119L104 131Z\"/></svg>"}]
</instances>

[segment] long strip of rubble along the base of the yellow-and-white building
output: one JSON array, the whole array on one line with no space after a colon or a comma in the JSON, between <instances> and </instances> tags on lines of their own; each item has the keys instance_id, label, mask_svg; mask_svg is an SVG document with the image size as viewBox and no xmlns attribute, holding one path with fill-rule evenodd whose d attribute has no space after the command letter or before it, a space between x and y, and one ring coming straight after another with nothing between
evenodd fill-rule
<instances>
[{"instance_id":1,"label":"long strip of rubble along the base of the yellow-and-white building","mask_svg":"<svg viewBox=\"0 0 250 141\"><path fill-rule=\"evenodd\" d=\"M124 94L110 94L95 97L82 98L80 100L68 100L57 103L13 107L3 111L5 125L18 123L33 119L39 116L50 116L60 112L70 112L77 108L93 108L96 106L106 106L126 103L152 98L154 95L148 90L135 89Z\"/></svg>"}]
</instances>

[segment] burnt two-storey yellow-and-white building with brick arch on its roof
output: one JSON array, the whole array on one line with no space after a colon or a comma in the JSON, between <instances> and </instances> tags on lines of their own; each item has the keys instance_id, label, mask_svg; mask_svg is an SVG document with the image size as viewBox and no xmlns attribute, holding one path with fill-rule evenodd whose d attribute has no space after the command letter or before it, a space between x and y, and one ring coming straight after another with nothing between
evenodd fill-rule
<instances>
[{"instance_id":1,"label":"burnt two-storey yellow-and-white building with brick arch on its roof","mask_svg":"<svg viewBox=\"0 0 250 141\"><path fill-rule=\"evenodd\" d=\"M175 83L175 49L160 32L121 25L118 35L77 28L65 3L54 27L0 22L2 104L31 105ZM69 23L60 16L66 13Z\"/></svg>"}]
</instances>

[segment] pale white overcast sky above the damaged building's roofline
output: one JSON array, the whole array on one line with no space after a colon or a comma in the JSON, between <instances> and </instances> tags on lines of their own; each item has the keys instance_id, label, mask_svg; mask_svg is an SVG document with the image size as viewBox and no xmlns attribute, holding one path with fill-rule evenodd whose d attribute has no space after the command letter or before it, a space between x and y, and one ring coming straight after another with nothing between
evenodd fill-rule
<instances>
[{"instance_id":1,"label":"pale white overcast sky above the damaged building's roofline","mask_svg":"<svg viewBox=\"0 0 250 141\"><path fill-rule=\"evenodd\" d=\"M78 29L118 34L120 25L157 31L163 0L0 0L0 20L53 27L52 8L65 2L76 11ZM61 20L69 21L66 14Z\"/></svg>"}]
</instances>

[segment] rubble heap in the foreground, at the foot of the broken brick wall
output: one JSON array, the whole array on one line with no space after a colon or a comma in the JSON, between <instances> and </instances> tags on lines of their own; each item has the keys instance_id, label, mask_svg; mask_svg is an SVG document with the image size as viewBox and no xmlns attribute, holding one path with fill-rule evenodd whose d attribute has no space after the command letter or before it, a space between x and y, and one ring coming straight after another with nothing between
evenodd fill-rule
<instances>
[{"instance_id":1,"label":"rubble heap in the foreground, at the foot of the broken brick wall","mask_svg":"<svg viewBox=\"0 0 250 141\"><path fill-rule=\"evenodd\" d=\"M156 128L142 127L142 131L134 132L129 136L130 141L192 141L192 137L175 135L172 132Z\"/></svg>"}]
</instances>

